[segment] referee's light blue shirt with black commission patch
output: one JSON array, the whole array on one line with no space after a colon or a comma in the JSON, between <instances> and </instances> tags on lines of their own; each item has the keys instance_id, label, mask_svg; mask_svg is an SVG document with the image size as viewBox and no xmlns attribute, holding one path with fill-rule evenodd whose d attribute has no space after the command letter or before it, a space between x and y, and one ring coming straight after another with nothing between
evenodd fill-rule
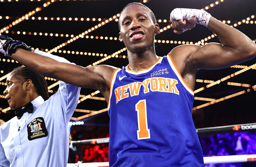
<instances>
[{"instance_id":1,"label":"referee's light blue shirt with black commission patch","mask_svg":"<svg viewBox=\"0 0 256 167\"><path fill-rule=\"evenodd\" d=\"M59 90L47 101L41 96L32 101L32 114L0 126L0 167L66 167L68 123L79 94L80 87L59 81Z\"/></svg>"}]
</instances>

